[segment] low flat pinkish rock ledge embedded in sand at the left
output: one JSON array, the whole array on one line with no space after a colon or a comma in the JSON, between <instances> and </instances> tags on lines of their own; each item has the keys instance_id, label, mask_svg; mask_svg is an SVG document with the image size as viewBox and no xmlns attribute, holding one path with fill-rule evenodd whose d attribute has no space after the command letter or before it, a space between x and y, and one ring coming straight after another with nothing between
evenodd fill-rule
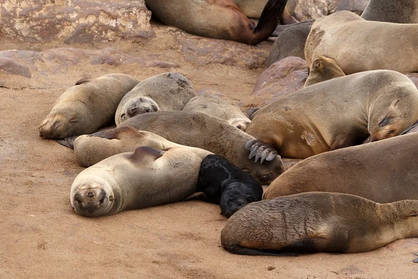
<instances>
[{"instance_id":1,"label":"low flat pinkish rock ledge embedded in sand at the left","mask_svg":"<svg viewBox=\"0 0 418 279\"><path fill-rule=\"evenodd\" d=\"M141 67L177 68L175 63L133 57L113 48L104 50L84 50L72 47L60 47L42 52L30 50L3 50L0 57L9 58L26 65L41 75L63 73L69 66L78 63L125 65L139 64Z\"/></svg>"}]
</instances>

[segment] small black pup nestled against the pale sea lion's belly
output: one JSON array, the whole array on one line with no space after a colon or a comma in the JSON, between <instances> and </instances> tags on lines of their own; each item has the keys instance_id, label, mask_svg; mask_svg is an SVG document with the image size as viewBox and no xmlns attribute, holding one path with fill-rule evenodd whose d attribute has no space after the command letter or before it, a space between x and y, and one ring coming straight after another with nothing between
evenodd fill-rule
<instances>
[{"instance_id":1,"label":"small black pup nestled against the pale sea lion's belly","mask_svg":"<svg viewBox=\"0 0 418 279\"><path fill-rule=\"evenodd\" d=\"M219 204L226 217L263 196L263 187L254 176L217 155L202 160L197 190L207 202Z\"/></svg>"}]
</instances>

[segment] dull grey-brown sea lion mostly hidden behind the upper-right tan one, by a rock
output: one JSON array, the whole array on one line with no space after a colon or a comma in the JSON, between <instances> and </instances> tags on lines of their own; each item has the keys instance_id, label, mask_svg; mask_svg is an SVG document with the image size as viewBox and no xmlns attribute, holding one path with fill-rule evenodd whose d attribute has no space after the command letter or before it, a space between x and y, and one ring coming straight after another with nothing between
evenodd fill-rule
<instances>
[{"instance_id":1,"label":"dull grey-brown sea lion mostly hidden behind the upper-right tan one, by a rock","mask_svg":"<svg viewBox=\"0 0 418 279\"><path fill-rule=\"evenodd\" d=\"M304 45L307 42L313 23L314 20L307 20L287 25L287 28L279 33L279 36L277 36L277 39L272 45L267 66L270 67L272 63L288 56L296 56L304 59Z\"/></svg>"}]
</instances>

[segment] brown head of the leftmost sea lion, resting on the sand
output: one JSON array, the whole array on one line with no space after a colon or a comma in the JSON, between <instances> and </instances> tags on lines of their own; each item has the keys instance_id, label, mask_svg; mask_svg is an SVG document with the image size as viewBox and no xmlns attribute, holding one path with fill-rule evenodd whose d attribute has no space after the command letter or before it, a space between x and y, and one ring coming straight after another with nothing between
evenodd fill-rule
<instances>
[{"instance_id":1,"label":"brown head of the leftmost sea lion, resting on the sand","mask_svg":"<svg viewBox=\"0 0 418 279\"><path fill-rule=\"evenodd\" d=\"M48 114L39 126L39 136L45 139L63 139L73 134L79 125L77 114L54 113Z\"/></svg>"}]
</instances>

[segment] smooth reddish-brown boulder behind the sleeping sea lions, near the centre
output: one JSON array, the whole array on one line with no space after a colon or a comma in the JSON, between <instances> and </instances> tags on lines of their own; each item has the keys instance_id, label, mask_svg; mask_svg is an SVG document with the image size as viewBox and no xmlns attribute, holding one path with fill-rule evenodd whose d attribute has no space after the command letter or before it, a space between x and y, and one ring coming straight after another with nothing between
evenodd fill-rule
<instances>
[{"instance_id":1,"label":"smooth reddish-brown boulder behind the sleeping sea lions, near the centre","mask_svg":"<svg viewBox=\"0 0 418 279\"><path fill-rule=\"evenodd\" d=\"M299 57L289 56L273 63L261 73L251 96L243 107L263 107L288 93L303 88L308 77L307 62Z\"/></svg>"}]
</instances>

